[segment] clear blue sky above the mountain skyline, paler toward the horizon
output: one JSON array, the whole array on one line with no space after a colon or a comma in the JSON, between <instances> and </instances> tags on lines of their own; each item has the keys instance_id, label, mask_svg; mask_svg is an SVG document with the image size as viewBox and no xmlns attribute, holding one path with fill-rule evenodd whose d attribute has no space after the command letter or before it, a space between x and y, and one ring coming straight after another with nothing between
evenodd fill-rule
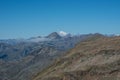
<instances>
[{"instance_id":1,"label":"clear blue sky above the mountain skyline, paler toward the horizon","mask_svg":"<svg viewBox=\"0 0 120 80\"><path fill-rule=\"evenodd\" d=\"M120 0L0 0L0 39L54 31L120 34Z\"/></svg>"}]
</instances>

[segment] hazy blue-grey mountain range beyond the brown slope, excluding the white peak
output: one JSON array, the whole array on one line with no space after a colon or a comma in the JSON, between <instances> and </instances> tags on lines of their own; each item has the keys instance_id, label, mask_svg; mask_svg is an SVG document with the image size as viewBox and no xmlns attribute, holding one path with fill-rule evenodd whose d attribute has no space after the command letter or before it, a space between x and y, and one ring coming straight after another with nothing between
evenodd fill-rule
<instances>
[{"instance_id":1,"label":"hazy blue-grey mountain range beyond the brown slope, excluding the white peak","mask_svg":"<svg viewBox=\"0 0 120 80\"><path fill-rule=\"evenodd\" d=\"M12 40L9 43L6 42L7 40L2 41L0 42L0 80L30 80L33 75L37 75L39 71L51 65L55 59L66 54L65 52L76 44L93 36L103 35L61 36L53 32L47 37Z\"/></svg>"}]
</instances>

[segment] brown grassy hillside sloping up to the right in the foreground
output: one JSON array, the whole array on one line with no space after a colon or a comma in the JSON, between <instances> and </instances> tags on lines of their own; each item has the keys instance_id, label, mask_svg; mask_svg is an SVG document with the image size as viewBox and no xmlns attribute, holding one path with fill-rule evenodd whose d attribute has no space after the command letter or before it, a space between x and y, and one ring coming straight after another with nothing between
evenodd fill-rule
<instances>
[{"instance_id":1,"label":"brown grassy hillside sloping up to the right in the foreground","mask_svg":"<svg viewBox=\"0 0 120 80\"><path fill-rule=\"evenodd\" d=\"M79 43L33 80L119 80L120 37Z\"/></svg>"}]
</instances>

